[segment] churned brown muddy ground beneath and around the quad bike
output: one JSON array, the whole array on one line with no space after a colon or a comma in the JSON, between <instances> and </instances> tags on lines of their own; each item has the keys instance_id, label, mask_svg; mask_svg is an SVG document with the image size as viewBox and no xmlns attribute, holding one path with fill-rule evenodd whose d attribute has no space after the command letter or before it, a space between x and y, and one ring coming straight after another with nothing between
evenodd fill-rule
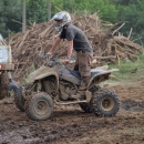
<instances>
[{"instance_id":1,"label":"churned brown muddy ground beneath and around the quad bike","mask_svg":"<svg viewBox=\"0 0 144 144\"><path fill-rule=\"evenodd\" d=\"M51 120L37 122L11 99L0 102L0 144L144 144L144 83L105 84L120 95L113 117L96 117L79 105L56 107Z\"/></svg>"}]
</instances>

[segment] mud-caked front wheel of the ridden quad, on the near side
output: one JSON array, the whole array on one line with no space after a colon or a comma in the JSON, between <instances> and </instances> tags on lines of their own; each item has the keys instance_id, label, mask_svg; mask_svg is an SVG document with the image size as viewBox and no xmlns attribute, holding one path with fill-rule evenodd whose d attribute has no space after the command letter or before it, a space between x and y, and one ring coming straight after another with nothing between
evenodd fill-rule
<instances>
[{"instance_id":1,"label":"mud-caked front wheel of the ridden quad, on the near side","mask_svg":"<svg viewBox=\"0 0 144 144\"><path fill-rule=\"evenodd\" d=\"M25 101L25 112L31 120L48 120L53 113L53 101L51 96L44 92L33 93Z\"/></svg>"}]
</instances>

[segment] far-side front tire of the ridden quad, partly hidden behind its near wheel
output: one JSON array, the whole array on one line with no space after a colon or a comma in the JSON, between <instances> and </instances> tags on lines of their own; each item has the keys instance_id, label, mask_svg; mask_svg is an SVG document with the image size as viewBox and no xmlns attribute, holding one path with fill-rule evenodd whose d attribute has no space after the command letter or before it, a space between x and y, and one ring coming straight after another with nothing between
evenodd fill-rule
<instances>
[{"instance_id":1,"label":"far-side front tire of the ridden quad, partly hidden behind its near wheel","mask_svg":"<svg viewBox=\"0 0 144 144\"><path fill-rule=\"evenodd\" d=\"M19 88L16 90L16 93L14 93L14 103L16 103L16 106L21 111L21 112L24 112L25 109L24 109L24 103L25 103L25 100L23 99L22 96L22 88Z\"/></svg>"}]
</instances>

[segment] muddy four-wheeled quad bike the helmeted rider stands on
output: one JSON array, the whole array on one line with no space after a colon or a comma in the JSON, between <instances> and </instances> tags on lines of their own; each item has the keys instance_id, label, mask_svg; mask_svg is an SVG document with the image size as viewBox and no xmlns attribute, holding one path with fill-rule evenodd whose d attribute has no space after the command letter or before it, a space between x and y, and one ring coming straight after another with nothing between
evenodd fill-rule
<instances>
[{"instance_id":1,"label":"muddy four-wheeled quad bike the helmeted rider stands on","mask_svg":"<svg viewBox=\"0 0 144 144\"><path fill-rule=\"evenodd\" d=\"M17 107L31 120L51 117L53 105L79 104L84 112L96 116L113 116L120 110L119 96L99 86L110 79L113 71L103 68L91 70L91 79L85 91L79 91L80 73L69 69L60 59L53 58L28 78L28 83L16 95Z\"/></svg>"}]
</instances>

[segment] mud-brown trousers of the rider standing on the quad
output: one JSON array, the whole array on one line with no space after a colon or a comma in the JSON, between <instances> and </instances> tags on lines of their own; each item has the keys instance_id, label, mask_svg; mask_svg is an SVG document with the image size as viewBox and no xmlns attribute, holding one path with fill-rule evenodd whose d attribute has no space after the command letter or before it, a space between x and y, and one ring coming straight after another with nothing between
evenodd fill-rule
<instances>
[{"instance_id":1,"label":"mud-brown trousers of the rider standing on the quad","mask_svg":"<svg viewBox=\"0 0 144 144\"><path fill-rule=\"evenodd\" d=\"M81 85L88 85L91 79L91 62L93 54L83 51L76 52L76 61L74 71L79 71L81 74Z\"/></svg>"}]
</instances>

